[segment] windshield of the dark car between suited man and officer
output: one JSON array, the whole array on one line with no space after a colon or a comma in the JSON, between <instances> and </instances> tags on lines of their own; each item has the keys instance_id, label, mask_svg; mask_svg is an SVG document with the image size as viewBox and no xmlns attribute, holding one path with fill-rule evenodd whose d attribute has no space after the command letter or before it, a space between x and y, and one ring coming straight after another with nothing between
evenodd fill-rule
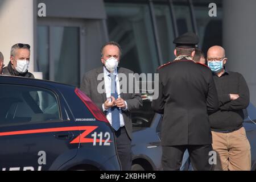
<instances>
[{"instance_id":1,"label":"windshield of the dark car between suited man and officer","mask_svg":"<svg viewBox=\"0 0 256 182\"><path fill-rule=\"evenodd\" d=\"M155 115L155 112L151 108L151 97L147 94L142 94L142 99L143 107L139 110L131 111L133 127L150 127Z\"/></svg>"}]
</instances>

